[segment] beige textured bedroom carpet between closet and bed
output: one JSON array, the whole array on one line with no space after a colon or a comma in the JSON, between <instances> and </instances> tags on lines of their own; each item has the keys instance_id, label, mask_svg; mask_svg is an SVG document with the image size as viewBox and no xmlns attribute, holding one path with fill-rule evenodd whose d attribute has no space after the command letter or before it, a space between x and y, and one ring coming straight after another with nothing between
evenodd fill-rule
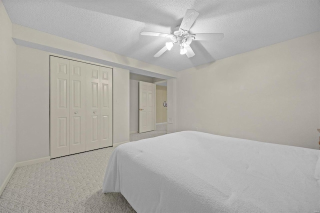
<instances>
[{"instance_id":1,"label":"beige textured bedroom carpet between closet and bed","mask_svg":"<svg viewBox=\"0 0 320 213\"><path fill-rule=\"evenodd\" d=\"M113 147L16 168L0 212L135 212L120 193L102 193Z\"/></svg>"}]
</instances>

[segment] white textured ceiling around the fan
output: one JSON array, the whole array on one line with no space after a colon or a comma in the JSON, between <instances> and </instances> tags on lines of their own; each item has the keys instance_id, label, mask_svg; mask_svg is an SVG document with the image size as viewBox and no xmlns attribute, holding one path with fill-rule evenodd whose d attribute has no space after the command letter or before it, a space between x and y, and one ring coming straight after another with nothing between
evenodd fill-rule
<instances>
[{"instance_id":1,"label":"white textured ceiling around the fan","mask_svg":"<svg viewBox=\"0 0 320 213\"><path fill-rule=\"evenodd\" d=\"M319 31L319 0L2 0L13 23L172 70L182 70ZM221 41L193 41L195 56L175 45L158 58L186 9L200 14L191 33L223 32Z\"/></svg>"}]
</instances>

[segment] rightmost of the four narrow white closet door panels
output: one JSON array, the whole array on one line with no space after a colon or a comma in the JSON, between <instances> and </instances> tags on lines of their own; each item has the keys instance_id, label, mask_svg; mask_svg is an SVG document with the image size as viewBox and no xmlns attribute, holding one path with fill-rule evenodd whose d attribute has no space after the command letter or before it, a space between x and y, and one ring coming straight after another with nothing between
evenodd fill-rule
<instances>
[{"instance_id":1,"label":"rightmost of the four narrow white closet door panels","mask_svg":"<svg viewBox=\"0 0 320 213\"><path fill-rule=\"evenodd\" d=\"M100 66L100 148L112 145L112 69Z\"/></svg>"}]
</instances>

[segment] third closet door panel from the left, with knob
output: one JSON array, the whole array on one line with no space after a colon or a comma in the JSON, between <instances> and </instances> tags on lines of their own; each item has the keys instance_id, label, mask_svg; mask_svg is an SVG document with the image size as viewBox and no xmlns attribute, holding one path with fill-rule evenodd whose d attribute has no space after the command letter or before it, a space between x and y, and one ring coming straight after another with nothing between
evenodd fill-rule
<instances>
[{"instance_id":1,"label":"third closet door panel from the left, with knob","mask_svg":"<svg viewBox=\"0 0 320 213\"><path fill-rule=\"evenodd\" d=\"M86 67L86 150L100 147L100 67Z\"/></svg>"}]
</instances>

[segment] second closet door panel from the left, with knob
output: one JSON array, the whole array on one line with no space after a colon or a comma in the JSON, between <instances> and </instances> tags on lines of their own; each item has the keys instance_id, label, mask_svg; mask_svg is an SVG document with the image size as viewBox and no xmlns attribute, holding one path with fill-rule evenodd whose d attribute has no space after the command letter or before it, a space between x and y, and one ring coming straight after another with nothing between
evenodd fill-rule
<instances>
[{"instance_id":1,"label":"second closet door panel from the left, with knob","mask_svg":"<svg viewBox=\"0 0 320 213\"><path fill-rule=\"evenodd\" d=\"M70 150L85 151L85 63L70 60Z\"/></svg>"}]
</instances>

